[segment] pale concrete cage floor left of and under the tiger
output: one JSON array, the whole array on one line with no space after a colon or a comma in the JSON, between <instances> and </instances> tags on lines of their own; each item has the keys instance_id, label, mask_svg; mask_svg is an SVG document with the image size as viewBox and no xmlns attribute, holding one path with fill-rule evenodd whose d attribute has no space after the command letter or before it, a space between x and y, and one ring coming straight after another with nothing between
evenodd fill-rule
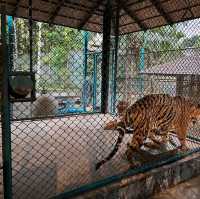
<instances>
[{"instance_id":1,"label":"pale concrete cage floor left of and under the tiger","mask_svg":"<svg viewBox=\"0 0 200 199\"><path fill-rule=\"evenodd\" d=\"M109 114L91 114L12 121L14 198L50 198L63 191L127 171L129 164L124 153L126 143L131 139L130 134L125 135L122 146L112 160L98 171L95 170L95 164L110 153L118 137L117 131L103 129L105 123L111 120L113 117ZM196 137L199 137L199 134ZM173 136L173 140L179 144L176 136ZM174 148L169 145L167 148ZM200 143L188 139L187 145L195 149ZM0 150L0 165L1 157ZM0 185L1 178L0 173ZM0 186L0 193L1 190Z\"/></svg>"}]
</instances>

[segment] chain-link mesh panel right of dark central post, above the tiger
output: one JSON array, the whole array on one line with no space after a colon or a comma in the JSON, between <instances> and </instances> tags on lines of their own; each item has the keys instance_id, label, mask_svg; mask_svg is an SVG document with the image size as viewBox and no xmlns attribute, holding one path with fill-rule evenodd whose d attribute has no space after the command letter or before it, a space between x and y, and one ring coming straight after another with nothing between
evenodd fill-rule
<instances>
[{"instance_id":1,"label":"chain-link mesh panel right of dark central post, above the tiger","mask_svg":"<svg viewBox=\"0 0 200 199\"><path fill-rule=\"evenodd\" d=\"M121 65L119 54L118 78L125 82L125 85L122 83L124 87L118 82L121 99L134 103L148 94L167 93L198 104L198 28L199 20L194 20L122 36L123 45L127 40L129 42L123 46L122 51L126 53ZM190 149L199 148L198 128L197 124L188 129L187 145ZM180 144L177 139L174 143Z\"/></svg>"}]
</instances>

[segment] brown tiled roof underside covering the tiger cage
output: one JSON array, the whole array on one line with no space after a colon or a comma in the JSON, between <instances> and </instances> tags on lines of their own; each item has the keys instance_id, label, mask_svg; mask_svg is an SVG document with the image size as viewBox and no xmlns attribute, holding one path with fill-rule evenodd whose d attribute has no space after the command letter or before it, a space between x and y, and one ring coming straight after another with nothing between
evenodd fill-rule
<instances>
[{"instance_id":1,"label":"brown tiled roof underside covering the tiger cage","mask_svg":"<svg viewBox=\"0 0 200 199\"><path fill-rule=\"evenodd\" d=\"M106 0L33 0L33 19L102 32ZM200 0L111 0L113 18L120 6L120 34L200 17ZM2 6L5 6L2 7ZM28 0L1 0L1 13L28 17Z\"/></svg>"}]
</instances>

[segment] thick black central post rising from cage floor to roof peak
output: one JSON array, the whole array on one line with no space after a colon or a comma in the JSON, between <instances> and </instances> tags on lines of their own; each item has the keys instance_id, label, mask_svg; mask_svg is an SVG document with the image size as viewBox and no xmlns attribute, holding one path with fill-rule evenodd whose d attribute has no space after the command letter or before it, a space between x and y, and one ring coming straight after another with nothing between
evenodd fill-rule
<instances>
[{"instance_id":1,"label":"thick black central post rising from cage floor to roof peak","mask_svg":"<svg viewBox=\"0 0 200 199\"><path fill-rule=\"evenodd\" d=\"M112 7L111 0L107 0L103 14L103 48L102 48L102 84L101 84L101 112L106 113L108 107L109 91L109 58L111 34Z\"/></svg>"}]
</instances>

